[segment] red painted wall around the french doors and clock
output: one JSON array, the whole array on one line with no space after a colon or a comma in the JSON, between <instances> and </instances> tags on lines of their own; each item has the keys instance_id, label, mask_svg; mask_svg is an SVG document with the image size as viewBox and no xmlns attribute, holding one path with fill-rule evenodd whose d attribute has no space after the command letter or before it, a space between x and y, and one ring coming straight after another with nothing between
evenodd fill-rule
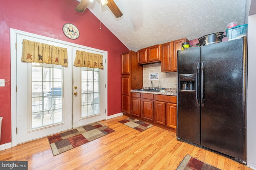
<instances>
[{"instance_id":1,"label":"red painted wall around the french doors and clock","mask_svg":"<svg viewBox=\"0 0 256 170\"><path fill-rule=\"evenodd\" d=\"M1 0L0 5L0 116L2 120L1 143L11 142L11 68L10 28L52 37L87 47L108 51L108 115L121 112L121 54L128 51L100 21L86 9L74 9L76 0ZM76 40L68 39L62 32L65 23L73 23L80 30Z\"/></svg>"}]
</instances>

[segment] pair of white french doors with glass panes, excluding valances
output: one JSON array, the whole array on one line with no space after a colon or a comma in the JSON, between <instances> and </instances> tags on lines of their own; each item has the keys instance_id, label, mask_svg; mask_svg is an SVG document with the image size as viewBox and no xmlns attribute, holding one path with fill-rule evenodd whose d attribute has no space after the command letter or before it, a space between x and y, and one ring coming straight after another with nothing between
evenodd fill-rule
<instances>
[{"instance_id":1,"label":"pair of white french doors with glass panes, excluding valances","mask_svg":"<svg viewBox=\"0 0 256 170\"><path fill-rule=\"evenodd\" d=\"M23 31L16 30L15 35L12 32L11 42L17 44L16 50L11 45L15 56L14 52L11 55L16 58L12 59L16 63L12 65L12 83L16 82L17 89L12 90L12 140L17 141L12 141L13 146L106 119L107 64L104 69L73 66L76 50L102 54L104 61L106 51ZM23 39L67 48L68 66L21 62Z\"/></svg>"}]
</instances>

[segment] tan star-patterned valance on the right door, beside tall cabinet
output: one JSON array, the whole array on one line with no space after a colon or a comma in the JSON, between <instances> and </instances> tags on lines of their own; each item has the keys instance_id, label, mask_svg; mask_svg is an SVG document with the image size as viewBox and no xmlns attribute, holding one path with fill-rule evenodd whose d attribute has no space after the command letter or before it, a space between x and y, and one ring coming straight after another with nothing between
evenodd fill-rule
<instances>
[{"instance_id":1,"label":"tan star-patterned valance on the right door, beside tall cabinet","mask_svg":"<svg viewBox=\"0 0 256 170\"><path fill-rule=\"evenodd\" d=\"M76 50L74 66L103 69L103 55Z\"/></svg>"}]
</instances>

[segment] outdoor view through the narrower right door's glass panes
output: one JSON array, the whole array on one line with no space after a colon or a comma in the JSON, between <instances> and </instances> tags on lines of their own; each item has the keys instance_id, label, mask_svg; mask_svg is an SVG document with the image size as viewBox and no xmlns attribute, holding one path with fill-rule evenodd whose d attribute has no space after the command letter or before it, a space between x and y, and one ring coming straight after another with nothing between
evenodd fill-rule
<instances>
[{"instance_id":1,"label":"outdoor view through the narrower right door's glass panes","mask_svg":"<svg viewBox=\"0 0 256 170\"><path fill-rule=\"evenodd\" d=\"M82 115L87 117L100 113L99 107L99 68L82 67L81 72L81 87L82 87Z\"/></svg>"}]
</instances>

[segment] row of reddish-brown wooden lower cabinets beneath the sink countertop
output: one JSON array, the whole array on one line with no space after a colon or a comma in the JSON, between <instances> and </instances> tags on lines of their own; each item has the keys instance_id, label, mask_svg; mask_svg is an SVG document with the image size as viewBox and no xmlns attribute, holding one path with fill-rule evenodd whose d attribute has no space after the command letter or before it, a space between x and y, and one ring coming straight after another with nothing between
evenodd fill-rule
<instances>
[{"instance_id":1,"label":"row of reddish-brown wooden lower cabinets beneath the sink countertop","mask_svg":"<svg viewBox=\"0 0 256 170\"><path fill-rule=\"evenodd\" d=\"M176 96L131 92L131 115L176 129Z\"/></svg>"}]
</instances>

